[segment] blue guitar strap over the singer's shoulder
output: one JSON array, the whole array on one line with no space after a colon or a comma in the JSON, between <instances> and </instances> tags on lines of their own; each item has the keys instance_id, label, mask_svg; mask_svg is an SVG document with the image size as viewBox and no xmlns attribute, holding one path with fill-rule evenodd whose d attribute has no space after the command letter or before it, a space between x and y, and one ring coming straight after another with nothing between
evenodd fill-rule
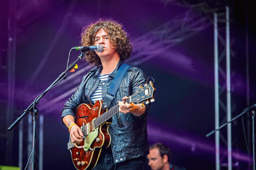
<instances>
[{"instance_id":1,"label":"blue guitar strap over the singer's shoulder","mask_svg":"<svg viewBox=\"0 0 256 170\"><path fill-rule=\"evenodd\" d=\"M129 69L130 65L123 63L120 68L117 71L117 75L115 76L114 80L112 81L112 84L105 96L105 99L103 101L103 109L106 110L113 99L115 98L115 95L117 93L118 87L121 84L122 78L126 71Z\"/></svg>"}]
</instances>

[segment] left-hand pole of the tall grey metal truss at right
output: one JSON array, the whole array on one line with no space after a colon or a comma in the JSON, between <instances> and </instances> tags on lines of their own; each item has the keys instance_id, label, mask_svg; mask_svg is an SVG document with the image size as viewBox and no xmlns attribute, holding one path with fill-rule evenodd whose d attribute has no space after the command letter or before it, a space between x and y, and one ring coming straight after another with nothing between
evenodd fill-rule
<instances>
[{"instance_id":1,"label":"left-hand pole of the tall grey metal truss at right","mask_svg":"<svg viewBox=\"0 0 256 170\"><path fill-rule=\"evenodd\" d=\"M219 81L218 81L218 25L217 13L214 13L214 88L215 88L215 128L219 128ZM215 133L215 160L216 170L220 170L220 136Z\"/></svg>"}]
</instances>

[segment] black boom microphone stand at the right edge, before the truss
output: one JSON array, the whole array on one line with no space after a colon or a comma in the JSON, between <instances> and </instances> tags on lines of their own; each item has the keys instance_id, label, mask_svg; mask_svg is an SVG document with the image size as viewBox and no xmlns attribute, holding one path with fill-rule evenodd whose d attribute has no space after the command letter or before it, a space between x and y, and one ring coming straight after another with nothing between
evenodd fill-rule
<instances>
[{"instance_id":1,"label":"black boom microphone stand at the right edge, before the truss","mask_svg":"<svg viewBox=\"0 0 256 170\"><path fill-rule=\"evenodd\" d=\"M219 128L211 131L210 133L206 134L206 137L208 138L209 136L211 136L213 133L215 133L216 131L220 130L221 128L223 128L224 126L226 126L228 123L233 122L235 119L237 119L238 117L244 115L247 112L251 111L251 119L252 119L252 148L253 148L253 170L255 170L255 133L254 133L254 117L255 117L255 111L253 109L256 108L256 104L247 107L244 109L244 111L242 113L240 113L238 116L234 117L233 119L231 119L230 121L224 123L222 126L220 126ZM250 157L249 157L250 160Z\"/></svg>"}]
</instances>

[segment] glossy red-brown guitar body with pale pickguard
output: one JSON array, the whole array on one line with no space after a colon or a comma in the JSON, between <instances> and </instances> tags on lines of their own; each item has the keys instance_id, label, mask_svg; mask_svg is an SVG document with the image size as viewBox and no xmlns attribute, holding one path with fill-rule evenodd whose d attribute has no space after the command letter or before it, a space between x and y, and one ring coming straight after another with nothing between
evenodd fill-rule
<instances>
[{"instance_id":1,"label":"glossy red-brown guitar body with pale pickguard","mask_svg":"<svg viewBox=\"0 0 256 170\"><path fill-rule=\"evenodd\" d=\"M102 101L96 101L94 106L81 104L76 110L76 124L79 127L84 127L83 125L92 122L103 113ZM78 170L93 169L100 157L101 149L110 146L109 125L110 123L105 122L95 130L91 130L92 132L86 136L83 142L76 143L76 147L70 149L73 164Z\"/></svg>"}]
</instances>

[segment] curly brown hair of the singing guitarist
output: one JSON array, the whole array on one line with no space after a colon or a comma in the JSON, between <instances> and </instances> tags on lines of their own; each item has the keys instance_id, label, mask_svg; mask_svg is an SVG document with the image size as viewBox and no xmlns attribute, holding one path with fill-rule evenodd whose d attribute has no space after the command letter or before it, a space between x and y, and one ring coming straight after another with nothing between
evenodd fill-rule
<instances>
[{"instance_id":1,"label":"curly brown hair of the singing guitarist","mask_svg":"<svg viewBox=\"0 0 256 170\"><path fill-rule=\"evenodd\" d=\"M123 60L130 57L133 46L130 43L130 39L127 33L122 28L120 23L114 21L113 19L99 19L88 26L83 27L81 34L81 46L91 46L94 45L95 34L103 28L104 31L108 32L110 41L116 48L120 58ZM95 64L96 66L101 64L99 56L94 51L89 51L85 55L85 59L90 64Z\"/></svg>"}]
</instances>

